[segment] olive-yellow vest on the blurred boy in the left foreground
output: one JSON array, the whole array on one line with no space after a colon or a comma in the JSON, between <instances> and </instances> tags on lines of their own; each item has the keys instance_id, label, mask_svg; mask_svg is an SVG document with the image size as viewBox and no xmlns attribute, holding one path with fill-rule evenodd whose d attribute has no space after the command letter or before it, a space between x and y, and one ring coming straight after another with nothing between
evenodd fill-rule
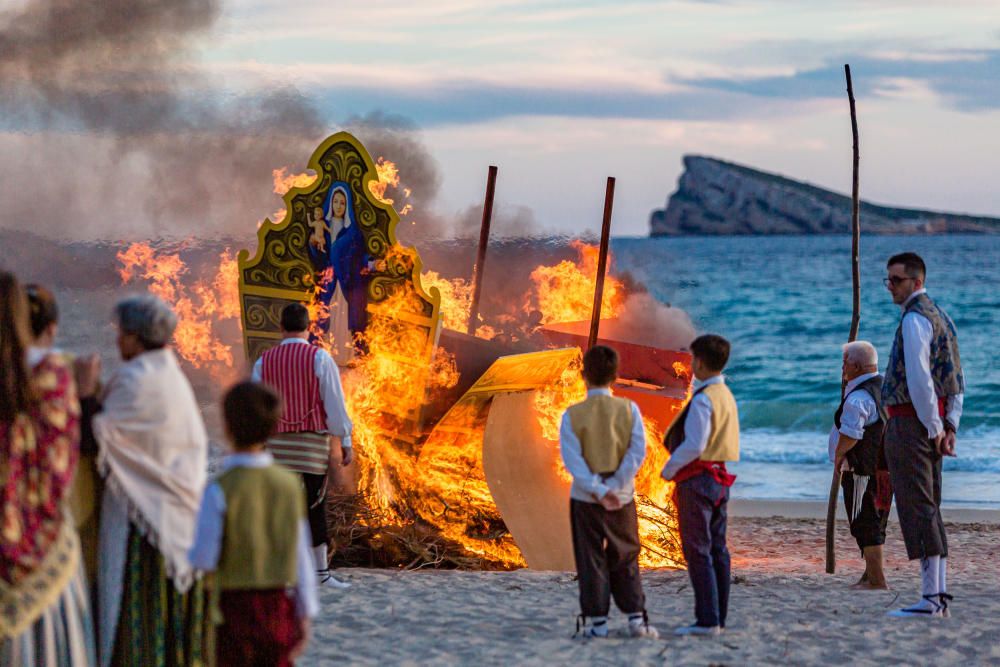
<instances>
[{"instance_id":1,"label":"olive-yellow vest on the blurred boy in the left foreground","mask_svg":"<svg viewBox=\"0 0 1000 667\"><path fill-rule=\"evenodd\" d=\"M216 480L226 498L217 577L222 590L294 586L299 522L305 499L299 478L281 466L236 467Z\"/></svg>"}]
</instances>

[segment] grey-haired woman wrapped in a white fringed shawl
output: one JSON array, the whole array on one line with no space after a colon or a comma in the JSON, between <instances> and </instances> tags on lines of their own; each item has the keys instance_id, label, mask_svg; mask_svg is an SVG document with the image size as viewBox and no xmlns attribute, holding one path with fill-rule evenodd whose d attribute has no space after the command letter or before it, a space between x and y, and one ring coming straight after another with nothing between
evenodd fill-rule
<instances>
[{"instance_id":1,"label":"grey-haired woman wrapped in a white fringed shawl","mask_svg":"<svg viewBox=\"0 0 1000 667\"><path fill-rule=\"evenodd\" d=\"M177 317L152 295L115 307L118 350L93 416L101 505L98 574L102 665L204 662L208 618L188 562L205 486L208 437L191 385L167 343ZM78 364L81 396L97 391L96 358Z\"/></svg>"}]
</instances>

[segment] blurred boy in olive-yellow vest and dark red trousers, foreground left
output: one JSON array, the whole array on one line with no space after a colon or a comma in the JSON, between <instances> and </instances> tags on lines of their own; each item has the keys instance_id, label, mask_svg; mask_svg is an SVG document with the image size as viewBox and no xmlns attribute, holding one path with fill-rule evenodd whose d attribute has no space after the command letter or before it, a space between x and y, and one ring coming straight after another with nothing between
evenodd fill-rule
<instances>
[{"instance_id":1,"label":"blurred boy in olive-yellow vest and dark red trousers, foreground left","mask_svg":"<svg viewBox=\"0 0 1000 667\"><path fill-rule=\"evenodd\" d=\"M221 624L216 663L292 665L319 611L301 482L266 449L281 399L237 384L223 399L233 453L205 489L191 564L215 572Z\"/></svg>"}]
</instances>

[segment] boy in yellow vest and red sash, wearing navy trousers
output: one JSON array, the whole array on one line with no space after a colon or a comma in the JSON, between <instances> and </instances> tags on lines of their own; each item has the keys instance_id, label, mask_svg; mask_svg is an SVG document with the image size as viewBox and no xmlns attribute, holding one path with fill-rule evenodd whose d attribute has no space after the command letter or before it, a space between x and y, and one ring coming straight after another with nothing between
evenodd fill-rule
<instances>
[{"instance_id":1,"label":"boy in yellow vest and red sash, wearing navy trousers","mask_svg":"<svg viewBox=\"0 0 1000 667\"><path fill-rule=\"evenodd\" d=\"M681 547L694 589L695 624L678 635L717 635L729 609L726 505L736 481L726 461L740 457L736 400L722 377L729 341L707 334L691 343L694 395L664 438L670 460L663 478L673 481Z\"/></svg>"}]
</instances>

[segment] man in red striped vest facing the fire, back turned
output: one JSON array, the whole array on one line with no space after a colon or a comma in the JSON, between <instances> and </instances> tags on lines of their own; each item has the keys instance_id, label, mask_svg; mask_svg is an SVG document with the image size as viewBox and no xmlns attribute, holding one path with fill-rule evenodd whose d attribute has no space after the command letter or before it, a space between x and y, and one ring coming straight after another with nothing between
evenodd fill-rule
<instances>
[{"instance_id":1,"label":"man in red striped vest facing the fire, back turned","mask_svg":"<svg viewBox=\"0 0 1000 667\"><path fill-rule=\"evenodd\" d=\"M352 460L351 431L340 371L330 354L309 342L309 310L292 303L281 311L281 343L260 356L253 380L274 387L284 401L278 431L267 441L275 460L299 473L306 493L313 557L320 582L347 588L330 572L326 528L327 469L333 453L340 464ZM331 447L330 441L340 447Z\"/></svg>"}]
</instances>

